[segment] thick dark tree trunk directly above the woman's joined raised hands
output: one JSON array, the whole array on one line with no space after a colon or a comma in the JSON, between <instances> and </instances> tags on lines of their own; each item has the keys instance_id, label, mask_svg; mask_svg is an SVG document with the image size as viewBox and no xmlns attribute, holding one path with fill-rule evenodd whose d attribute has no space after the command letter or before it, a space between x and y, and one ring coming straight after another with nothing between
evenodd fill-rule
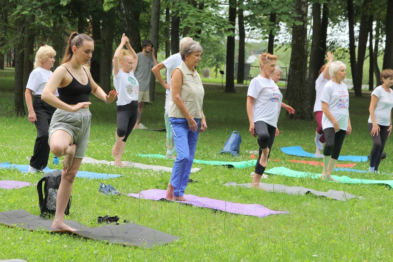
<instances>
[{"instance_id":1,"label":"thick dark tree trunk directly above the woman's joined raised hands","mask_svg":"<svg viewBox=\"0 0 393 262\"><path fill-rule=\"evenodd\" d=\"M136 53L142 51L140 27L141 6L138 0L119 0L120 18L123 31L130 39Z\"/></svg>"}]
</instances>

